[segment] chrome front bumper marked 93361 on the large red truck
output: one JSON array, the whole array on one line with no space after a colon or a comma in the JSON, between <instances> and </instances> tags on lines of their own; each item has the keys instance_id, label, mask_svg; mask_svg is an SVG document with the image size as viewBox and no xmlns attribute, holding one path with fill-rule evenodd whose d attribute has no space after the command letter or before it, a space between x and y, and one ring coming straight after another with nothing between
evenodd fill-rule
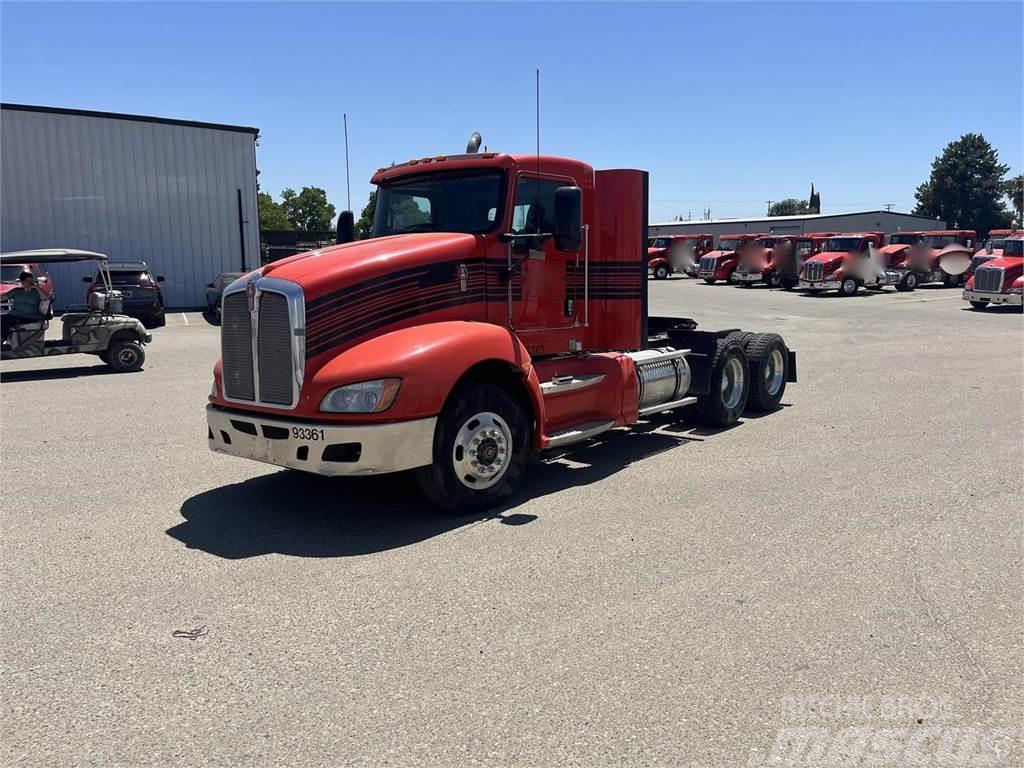
<instances>
[{"instance_id":1,"label":"chrome front bumper marked 93361 on the large red truck","mask_svg":"<svg viewBox=\"0 0 1024 768\"><path fill-rule=\"evenodd\" d=\"M437 419L313 424L209 404L206 423L218 454L319 475L376 475L430 464Z\"/></svg>"}]
</instances>

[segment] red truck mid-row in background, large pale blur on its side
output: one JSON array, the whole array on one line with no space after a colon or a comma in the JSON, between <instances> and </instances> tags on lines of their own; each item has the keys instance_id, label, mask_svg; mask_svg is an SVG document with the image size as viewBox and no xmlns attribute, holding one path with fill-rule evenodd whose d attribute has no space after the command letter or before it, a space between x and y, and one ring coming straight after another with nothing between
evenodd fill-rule
<instances>
[{"instance_id":1,"label":"red truck mid-row in background, large pale blur on its side","mask_svg":"<svg viewBox=\"0 0 1024 768\"><path fill-rule=\"evenodd\" d=\"M838 291L842 296L853 296L861 287L881 290L895 286L897 291L912 291L913 287L905 284L905 270L886 266L881 252L884 245L884 232L844 232L829 238L821 252L804 263L800 288L811 293Z\"/></svg>"}]
</instances>

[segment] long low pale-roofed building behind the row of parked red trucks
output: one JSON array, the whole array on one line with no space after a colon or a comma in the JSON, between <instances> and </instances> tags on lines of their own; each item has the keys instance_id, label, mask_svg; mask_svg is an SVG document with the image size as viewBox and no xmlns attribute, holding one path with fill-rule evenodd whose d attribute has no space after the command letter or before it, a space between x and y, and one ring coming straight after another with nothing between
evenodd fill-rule
<instances>
[{"instance_id":1,"label":"long low pale-roofed building behind the row of parked red trucks","mask_svg":"<svg viewBox=\"0 0 1024 768\"><path fill-rule=\"evenodd\" d=\"M945 229L946 222L893 211L854 211L851 213L811 213L801 216L761 216L750 219L710 219L706 221L667 221L651 224L649 233L685 234L686 232L721 234L765 232L806 234L807 232L895 232L905 229Z\"/></svg>"}]
</instances>

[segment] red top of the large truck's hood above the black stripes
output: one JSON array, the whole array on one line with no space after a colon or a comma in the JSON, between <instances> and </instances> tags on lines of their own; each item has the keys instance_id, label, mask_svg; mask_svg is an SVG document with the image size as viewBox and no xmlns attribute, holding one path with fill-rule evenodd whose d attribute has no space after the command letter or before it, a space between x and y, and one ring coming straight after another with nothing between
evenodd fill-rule
<instances>
[{"instance_id":1,"label":"red top of the large truck's hood above the black stripes","mask_svg":"<svg viewBox=\"0 0 1024 768\"><path fill-rule=\"evenodd\" d=\"M462 232L415 232L387 238L359 240L340 246L296 254L267 264L261 270L265 276L297 283L302 287L306 302L325 294L379 279L382 287L389 275L420 267L424 274L443 269L445 274L428 275L440 283L457 281L454 269L460 261L482 256L480 240ZM453 266L454 263L454 266Z\"/></svg>"}]
</instances>

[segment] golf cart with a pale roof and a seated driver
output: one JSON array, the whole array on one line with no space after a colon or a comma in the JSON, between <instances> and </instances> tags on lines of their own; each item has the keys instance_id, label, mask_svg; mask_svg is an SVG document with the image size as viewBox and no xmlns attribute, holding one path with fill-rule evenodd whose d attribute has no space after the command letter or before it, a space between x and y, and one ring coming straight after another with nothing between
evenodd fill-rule
<instances>
[{"instance_id":1,"label":"golf cart with a pale roof and a seated driver","mask_svg":"<svg viewBox=\"0 0 1024 768\"><path fill-rule=\"evenodd\" d=\"M42 319L23 323L10 331L3 342L0 359L48 357L52 354L95 354L119 373L138 371L145 361L142 345L153 340L150 332L134 317L121 314L121 294L114 290L106 256L92 251L71 248L47 248L39 251L16 251L0 254L0 264L56 264L95 261L102 283L101 290L89 294L88 310L65 312L60 315L63 333L59 339L46 339L49 301L40 301ZM11 302L0 302L0 314L11 310Z\"/></svg>"}]
</instances>

